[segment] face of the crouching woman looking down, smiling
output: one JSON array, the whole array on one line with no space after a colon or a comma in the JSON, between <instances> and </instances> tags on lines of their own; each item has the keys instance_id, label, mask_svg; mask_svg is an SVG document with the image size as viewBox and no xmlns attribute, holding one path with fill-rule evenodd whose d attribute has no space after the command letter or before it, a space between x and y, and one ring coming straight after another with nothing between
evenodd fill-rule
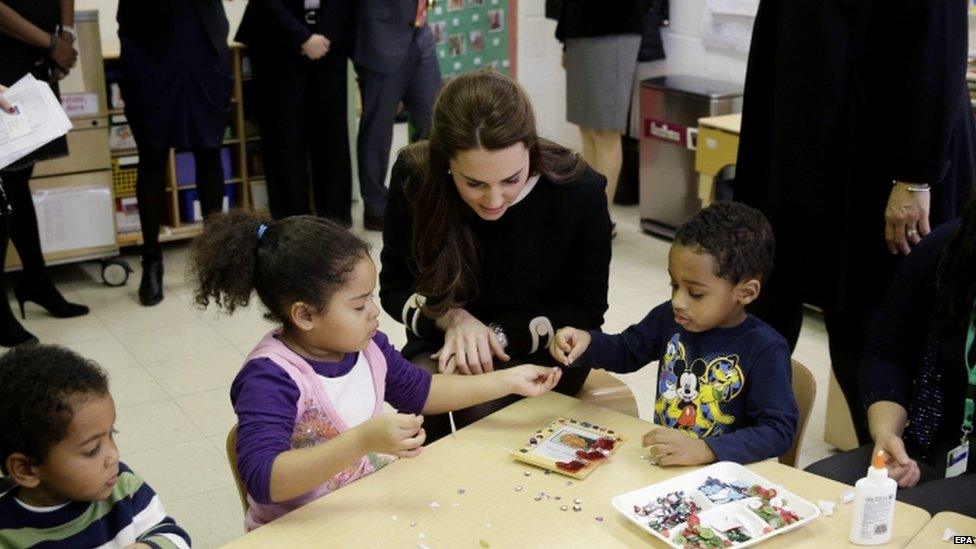
<instances>
[{"instance_id":1,"label":"face of the crouching woman looking down, smiling","mask_svg":"<svg viewBox=\"0 0 976 549\"><path fill-rule=\"evenodd\" d=\"M472 149L451 159L461 200L485 221L505 215L529 178L529 149L519 142L495 151Z\"/></svg>"}]
</instances>

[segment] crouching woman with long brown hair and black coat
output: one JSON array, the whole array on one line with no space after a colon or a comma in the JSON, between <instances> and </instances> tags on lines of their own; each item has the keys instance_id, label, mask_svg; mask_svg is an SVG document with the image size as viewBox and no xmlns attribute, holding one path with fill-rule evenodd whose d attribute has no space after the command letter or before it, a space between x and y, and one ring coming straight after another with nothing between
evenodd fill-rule
<instances>
[{"instance_id":1,"label":"crouching woman with long brown hair and black coat","mask_svg":"<svg viewBox=\"0 0 976 549\"><path fill-rule=\"evenodd\" d=\"M518 84L491 71L447 82L430 140L401 152L390 178L380 300L407 329L403 355L471 375L555 365L555 328L603 325L605 189L578 155L538 137ZM556 390L575 395L588 374L566 370ZM458 426L508 402L455 412ZM428 440L444 434L439 421L424 423Z\"/></svg>"}]
</instances>

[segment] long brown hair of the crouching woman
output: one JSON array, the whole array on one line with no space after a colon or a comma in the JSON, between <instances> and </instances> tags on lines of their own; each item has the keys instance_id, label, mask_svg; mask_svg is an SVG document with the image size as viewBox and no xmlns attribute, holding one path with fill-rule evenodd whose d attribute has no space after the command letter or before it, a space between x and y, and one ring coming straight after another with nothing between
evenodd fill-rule
<instances>
[{"instance_id":1,"label":"long brown hair of the crouching woman","mask_svg":"<svg viewBox=\"0 0 976 549\"><path fill-rule=\"evenodd\" d=\"M458 153L497 151L522 143L529 174L554 183L572 181L586 169L578 155L539 138L525 91L501 73L478 70L448 81L434 104L430 139L408 147L413 196L413 254L420 267L417 292L428 296L425 313L438 317L478 293L480 249L470 222L474 212L448 173Z\"/></svg>"}]
</instances>

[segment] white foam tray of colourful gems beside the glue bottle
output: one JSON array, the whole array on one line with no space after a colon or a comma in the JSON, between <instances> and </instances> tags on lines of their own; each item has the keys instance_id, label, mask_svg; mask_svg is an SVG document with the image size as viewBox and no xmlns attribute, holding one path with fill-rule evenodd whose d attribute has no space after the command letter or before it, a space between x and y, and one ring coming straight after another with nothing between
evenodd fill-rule
<instances>
[{"instance_id":1,"label":"white foam tray of colourful gems beside the glue bottle","mask_svg":"<svg viewBox=\"0 0 976 549\"><path fill-rule=\"evenodd\" d=\"M766 528L767 524L748 507L746 507L746 503L750 499L754 498L747 498L723 504L713 503L710 499L708 499L707 496L698 491L698 487L703 485L708 477L717 478L726 482L736 479L745 482L750 486L753 484L758 484L763 488L775 488L777 495L786 501L787 508L796 513L796 515L800 517L800 520L764 534L763 530ZM642 517L634 513L635 506L643 507L647 505L648 502L654 501L658 497L664 496L671 492L676 492L678 490L683 490L685 494L691 497L691 499L698 504L699 508L701 508L701 511L698 513L698 517L701 519L702 526L707 527L709 526L709 523L722 520L726 517L734 518L740 522L743 527L748 530L752 539L742 543L734 543L732 547L736 548L749 547L750 545L761 543L773 536L778 536L785 532L789 532L790 530L800 528L804 524L820 516L820 508L816 505L801 498L800 496L797 496L793 492L790 492L783 486L753 473L742 465L729 461L713 463L712 465L703 467L697 471L659 482L657 484L645 486L644 488L633 490L625 494L620 494L619 496L613 498L612 503L617 511L623 514L628 520L636 524L645 532L660 539L671 547L682 549L683 546L674 543L673 540L675 536L684 530L685 523L681 523L678 526L671 528L669 531L670 536L665 537L661 535L660 532L657 532L648 526L649 521L647 517Z\"/></svg>"}]
</instances>

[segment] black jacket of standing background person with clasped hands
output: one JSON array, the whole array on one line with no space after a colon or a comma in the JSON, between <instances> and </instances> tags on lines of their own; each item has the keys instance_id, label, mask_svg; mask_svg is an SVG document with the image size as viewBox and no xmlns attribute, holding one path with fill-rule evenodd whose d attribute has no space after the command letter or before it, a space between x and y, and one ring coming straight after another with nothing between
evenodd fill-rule
<instances>
[{"instance_id":1,"label":"black jacket of standing background person with clasped hands","mask_svg":"<svg viewBox=\"0 0 976 549\"><path fill-rule=\"evenodd\" d=\"M265 51L301 55L312 34L329 39L329 52L345 52L352 38L350 0L321 0L314 24L305 19L304 0L250 0L235 40Z\"/></svg>"}]
</instances>

